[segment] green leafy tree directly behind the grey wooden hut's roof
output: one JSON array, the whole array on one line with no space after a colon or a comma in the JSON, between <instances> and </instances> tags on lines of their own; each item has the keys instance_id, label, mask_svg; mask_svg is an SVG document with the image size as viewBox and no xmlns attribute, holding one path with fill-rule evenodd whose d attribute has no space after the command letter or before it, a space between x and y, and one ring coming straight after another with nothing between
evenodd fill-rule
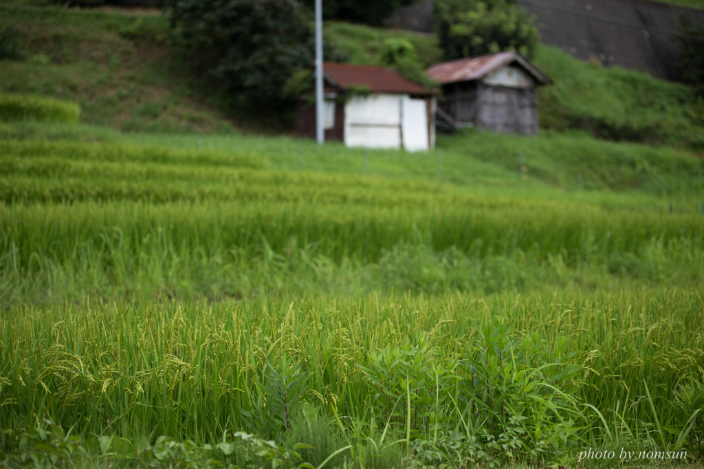
<instances>
[{"instance_id":1,"label":"green leafy tree directly behind the grey wooden hut's roof","mask_svg":"<svg viewBox=\"0 0 704 469\"><path fill-rule=\"evenodd\" d=\"M539 42L517 0L436 0L435 18L447 60L510 50L532 58Z\"/></svg>"}]
</instances>

